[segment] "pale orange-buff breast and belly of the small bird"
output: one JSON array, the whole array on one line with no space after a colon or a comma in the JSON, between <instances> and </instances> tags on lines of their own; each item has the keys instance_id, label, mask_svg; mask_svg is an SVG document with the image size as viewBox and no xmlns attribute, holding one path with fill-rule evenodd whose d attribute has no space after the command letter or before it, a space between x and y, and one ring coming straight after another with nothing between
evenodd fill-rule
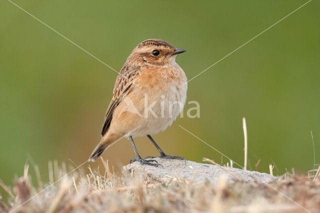
<instances>
[{"instance_id":1,"label":"pale orange-buff breast and belly of the small bird","mask_svg":"<svg viewBox=\"0 0 320 213\"><path fill-rule=\"evenodd\" d=\"M115 109L113 133L132 137L155 134L171 125L182 111L187 90L183 70L176 64L160 76L151 73L141 72L140 78L147 80L138 81L140 86L133 87Z\"/></svg>"}]
</instances>

